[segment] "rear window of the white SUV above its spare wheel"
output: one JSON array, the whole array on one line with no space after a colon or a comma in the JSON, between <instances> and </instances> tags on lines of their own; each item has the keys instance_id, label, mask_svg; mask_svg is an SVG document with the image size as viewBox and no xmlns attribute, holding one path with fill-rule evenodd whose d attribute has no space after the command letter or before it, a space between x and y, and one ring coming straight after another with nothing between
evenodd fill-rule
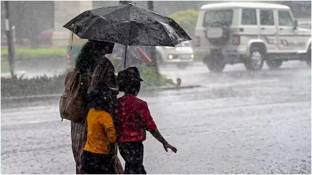
<instances>
[{"instance_id":1,"label":"rear window of the white SUV above its spare wheel","mask_svg":"<svg viewBox=\"0 0 312 175\"><path fill-rule=\"evenodd\" d=\"M205 13L203 26L208 26L215 21L222 22L226 26L231 26L233 17L233 10L209 10Z\"/></svg>"}]
</instances>

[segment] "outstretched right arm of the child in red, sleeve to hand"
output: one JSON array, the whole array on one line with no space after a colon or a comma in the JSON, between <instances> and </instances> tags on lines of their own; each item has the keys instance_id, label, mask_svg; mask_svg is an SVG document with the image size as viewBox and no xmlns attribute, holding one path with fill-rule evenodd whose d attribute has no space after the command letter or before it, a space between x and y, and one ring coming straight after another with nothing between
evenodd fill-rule
<instances>
[{"instance_id":1,"label":"outstretched right arm of the child in red, sleeve to hand","mask_svg":"<svg viewBox=\"0 0 312 175\"><path fill-rule=\"evenodd\" d=\"M175 153L177 152L177 149L174 146L168 144L168 142L163 138L163 136L158 131L157 126L153 121L153 118L149 112L149 108L146 102L140 105L139 116L141 117L142 121L144 121L146 125L146 130L148 130L155 137L155 139L157 139L160 143L163 144L163 148L166 150L166 152L168 152L168 148Z\"/></svg>"}]
</instances>

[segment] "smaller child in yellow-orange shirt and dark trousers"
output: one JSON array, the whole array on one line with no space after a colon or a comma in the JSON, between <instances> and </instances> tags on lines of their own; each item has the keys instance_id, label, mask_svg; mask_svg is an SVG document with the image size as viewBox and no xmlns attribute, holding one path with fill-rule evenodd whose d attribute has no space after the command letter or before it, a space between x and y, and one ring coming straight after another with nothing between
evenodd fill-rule
<instances>
[{"instance_id":1,"label":"smaller child in yellow-orange shirt and dark trousers","mask_svg":"<svg viewBox=\"0 0 312 175\"><path fill-rule=\"evenodd\" d=\"M88 134L82 154L81 171L85 174L116 174L110 154L116 142L116 131L110 111L110 87L91 86L88 89L90 111L87 116Z\"/></svg>"}]
</instances>

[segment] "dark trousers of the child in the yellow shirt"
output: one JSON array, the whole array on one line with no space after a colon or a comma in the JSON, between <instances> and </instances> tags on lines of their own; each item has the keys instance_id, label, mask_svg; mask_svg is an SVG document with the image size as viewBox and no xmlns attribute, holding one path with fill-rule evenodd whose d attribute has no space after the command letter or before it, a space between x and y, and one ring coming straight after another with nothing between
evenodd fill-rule
<instances>
[{"instance_id":1,"label":"dark trousers of the child in the yellow shirt","mask_svg":"<svg viewBox=\"0 0 312 175\"><path fill-rule=\"evenodd\" d=\"M96 154L89 151L82 153L83 174L116 174L112 156L108 154Z\"/></svg>"}]
</instances>

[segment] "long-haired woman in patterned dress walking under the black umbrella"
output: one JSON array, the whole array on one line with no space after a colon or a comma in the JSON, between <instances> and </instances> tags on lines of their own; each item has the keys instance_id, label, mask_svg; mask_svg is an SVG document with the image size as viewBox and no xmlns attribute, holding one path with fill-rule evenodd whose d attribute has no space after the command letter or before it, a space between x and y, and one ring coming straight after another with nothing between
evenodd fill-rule
<instances>
[{"instance_id":1,"label":"long-haired woman in patterned dress walking under the black umbrella","mask_svg":"<svg viewBox=\"0 0 312 175\"><path fill-rule=\"evenodd\" d=\"M117 88L117 80L113 64L104 55L111 54L114 43L105 41L89 40L80 51L76 59L75 69L78 70L85 84L85 92L88 88L98 83L99 87L107 83L110 87ZM112 95L112 103L117 99L117 95ZM87 95L83 101L88 104L89 100ZM112 114L112 116L114 116ZM87 120L86 116L78 122L71 121L71 141L72 150L76 162L76 174L81 174L81 155L87 140ZM117 157L117 146L113 152L113 163L115 164L115 171L117 174L123 174L124 170Z\"/></svg>"}]
</instances>

